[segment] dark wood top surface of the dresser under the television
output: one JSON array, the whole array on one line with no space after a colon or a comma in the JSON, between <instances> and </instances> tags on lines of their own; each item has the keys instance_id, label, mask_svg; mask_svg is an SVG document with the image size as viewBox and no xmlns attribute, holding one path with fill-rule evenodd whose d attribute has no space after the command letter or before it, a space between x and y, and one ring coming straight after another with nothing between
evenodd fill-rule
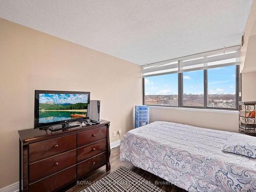
<instances>
[{"instance_id":1,"label":"dark wood top surface of the dresser under the television","mask_svg":"<svg viewBox=\"0 0 256 192\"><path fill-rule=\"evenodd\" d=\"M70 135L72 133L78 133L86 130L91 130L96 127L100 127L104 124L109 124L110 121L103 120L100 122L100 124L96 125L86 125L85 127L78 126L74 127L71 129L66 129L66 130L60 130L56 132L52 132L50 130L40 130L40 129L27 129L27 130L19 130L18 135L19 139L22 142L35 142L35 141L40 141L40 140L45 140L46 136L47 139L54 138L54 137L60 137L64 135Z\"/></svg>"}]
</instances>

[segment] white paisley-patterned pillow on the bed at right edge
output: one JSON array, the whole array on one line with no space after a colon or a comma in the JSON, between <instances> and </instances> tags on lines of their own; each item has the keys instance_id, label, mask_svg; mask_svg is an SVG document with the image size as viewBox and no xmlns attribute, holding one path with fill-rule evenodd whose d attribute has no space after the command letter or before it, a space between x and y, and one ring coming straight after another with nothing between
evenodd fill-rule
<instances>
[{"instance_id":1,"label":"white paisley-patterned pillow on the bed at right edge","mask_svg":"<svg viewBox=\"0 0 256 192\"><path fill-rule=\"evenodd\" d=\"M222 151L256 159L256 137L236 134L229 137Z\"/></svg>"}]
</instances>

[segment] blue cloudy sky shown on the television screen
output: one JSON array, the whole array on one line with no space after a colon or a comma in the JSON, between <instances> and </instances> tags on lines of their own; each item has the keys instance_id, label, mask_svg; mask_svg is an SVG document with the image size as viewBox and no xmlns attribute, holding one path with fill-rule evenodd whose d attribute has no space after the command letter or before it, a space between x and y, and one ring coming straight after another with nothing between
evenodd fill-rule
<instances>
[{"instance_id":1,"label":"blue cloudy sky shown on the television screen","mask_svg":"<svg viewBox=\"0 0 256 192\"><path fill-rule=\"evenodd\" d=\"M39 94L39 103L87 103L87 94Z\"/></svg>"}]
</instances>

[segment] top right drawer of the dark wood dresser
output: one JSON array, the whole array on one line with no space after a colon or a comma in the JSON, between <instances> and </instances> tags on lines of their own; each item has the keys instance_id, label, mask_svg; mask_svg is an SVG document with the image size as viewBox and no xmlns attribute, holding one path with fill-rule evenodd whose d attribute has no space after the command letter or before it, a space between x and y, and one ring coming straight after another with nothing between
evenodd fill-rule
<instances>
[{"instance_id":1,"label":"top right drawer of the dark wood dresser","mask_svg":"<svg viewBox=\"0 0 256 192\"><path fill-rule=\"evenodd\" d=\"M106 126L77 133L77 145L82 146L106 138Z\"/></svg>"}]
</instances>

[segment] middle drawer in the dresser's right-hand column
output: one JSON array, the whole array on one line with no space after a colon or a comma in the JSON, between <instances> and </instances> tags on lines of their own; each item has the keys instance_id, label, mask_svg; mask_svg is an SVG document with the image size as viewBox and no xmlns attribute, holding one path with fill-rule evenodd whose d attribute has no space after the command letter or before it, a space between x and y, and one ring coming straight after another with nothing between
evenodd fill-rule
<instances>
[{"instance_id":1,"label":"middle drawer in the dresser's right-hand column","mask_svg":"<svg viewBox=\"0 0 256 192\"><path fill-rule=\"evenodd\" d=\"M82 146L77 149L77 161L80 162L86 160L104 151L106 151L106 139Z\"/></svg>"}]
</instances>

